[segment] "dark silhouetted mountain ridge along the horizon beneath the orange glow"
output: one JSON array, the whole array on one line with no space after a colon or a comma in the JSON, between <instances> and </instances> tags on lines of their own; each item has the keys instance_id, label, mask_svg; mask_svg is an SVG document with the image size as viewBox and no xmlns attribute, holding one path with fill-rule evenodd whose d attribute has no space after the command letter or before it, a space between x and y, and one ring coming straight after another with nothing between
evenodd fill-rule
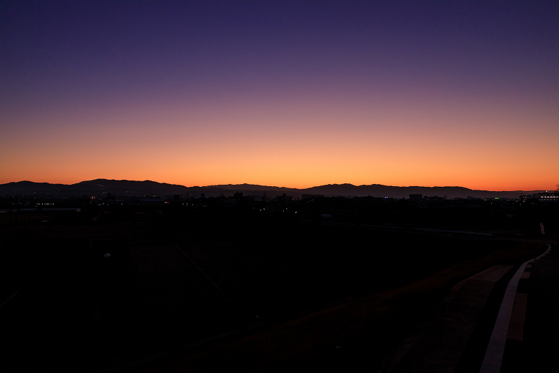
<instances>
[{"instance_id":1,"label":"dark silhouetted mountain ridge along the horizon beneath the orange glow","mask_svg":"<svg viewBox=\"0 0 559 373\"><path fill-rule=\"evenodd\" d=\"M184 185L157 183L155 181L127 181L127 180L107 180L99 178L92 181L82 181L81 183L50 184L33 183L31 181L20 181L17 183L6 183L0 185L0 195L8 197L11 195L19 196L52 196L52 197L79 197L93 195L127 195L127 196L166 196L180 195L201 197L216 197L224 195L233 197L234 192L243 192L245 195L267 195L275 197L282 193L289 193L294 198L301 195L324 195L325 197L344 196L344 197L391 197L409 198L409 195L439 196L447 198L518 198L521 194L533 194L540 190L514 190L514 191L490 191L472 190L463 187L398 187L390 185L351 185L351 184L328 184L306 189L282 188L266 185L236 184L236 185L208 185L203 187L186 187Z\"/></svg>"}]
</instances>

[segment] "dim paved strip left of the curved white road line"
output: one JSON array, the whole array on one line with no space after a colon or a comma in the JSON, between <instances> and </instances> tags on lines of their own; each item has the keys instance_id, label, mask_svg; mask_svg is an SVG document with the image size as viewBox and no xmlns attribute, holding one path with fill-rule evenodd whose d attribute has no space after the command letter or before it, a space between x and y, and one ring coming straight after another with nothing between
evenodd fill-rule
<instances>
[{"instance_id":1,"label":"dim paved strip left of the curved white road line","mask_svg":"<svg viewBox=\"0 0 559 373\"><path fill-rule=\"evenodd\" d=\"M516 269L496 265L456 284L379 372L479 371L504 288ZM484 328L479 330L479 325Z\"/></svg>"}]
</instances>

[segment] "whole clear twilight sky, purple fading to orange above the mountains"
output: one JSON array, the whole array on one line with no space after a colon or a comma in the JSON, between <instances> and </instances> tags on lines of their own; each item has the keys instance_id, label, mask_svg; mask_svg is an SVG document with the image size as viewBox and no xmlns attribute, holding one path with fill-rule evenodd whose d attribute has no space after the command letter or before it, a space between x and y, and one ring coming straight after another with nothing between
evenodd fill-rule
<instances>
[{"instance_id":1,"label":"whole clear twilight sky, purple fading to orange above the mountains","mask_svg":"<svg viewBox=\"0 0 559 373\"><path fill-rule=\"evenodd\" d=\"M559 183L558 1L0 1L0 183Z\"/></svg>"}]
</instances>

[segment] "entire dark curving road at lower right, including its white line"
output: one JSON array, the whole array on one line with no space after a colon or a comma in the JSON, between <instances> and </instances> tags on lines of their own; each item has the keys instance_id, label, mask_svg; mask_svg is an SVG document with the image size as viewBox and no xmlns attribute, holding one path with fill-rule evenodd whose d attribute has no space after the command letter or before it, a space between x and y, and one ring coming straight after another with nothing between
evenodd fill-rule
<instances>
[{"instance_id":1,"label":"entire dark curving road at lower right, including its white line","mask_svg":"<svg viewBox=\"0 0 559 373\"><path fill-rule=\"evenodd\" d=\"M551 248L458 283L379 372L559 372L558 337L559 248Z\"/></svg>"}]
</instances>

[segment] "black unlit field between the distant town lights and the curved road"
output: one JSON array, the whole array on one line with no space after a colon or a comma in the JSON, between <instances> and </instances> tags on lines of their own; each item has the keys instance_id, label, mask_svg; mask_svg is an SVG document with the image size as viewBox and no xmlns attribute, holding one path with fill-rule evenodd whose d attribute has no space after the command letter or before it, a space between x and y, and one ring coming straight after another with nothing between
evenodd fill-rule
<instances>
[{"instance_id":1,"label":"black unlit field between the distant town lights and the curved road","mask_svg":"<svg viewBox=\"0 0 559 373\"><path fill-rule=\"evenodd\" d=\"M6 225L0 244L6 372L375 369L454 283L544 247L208 217Z\"/></svg>"}]
</instances>

